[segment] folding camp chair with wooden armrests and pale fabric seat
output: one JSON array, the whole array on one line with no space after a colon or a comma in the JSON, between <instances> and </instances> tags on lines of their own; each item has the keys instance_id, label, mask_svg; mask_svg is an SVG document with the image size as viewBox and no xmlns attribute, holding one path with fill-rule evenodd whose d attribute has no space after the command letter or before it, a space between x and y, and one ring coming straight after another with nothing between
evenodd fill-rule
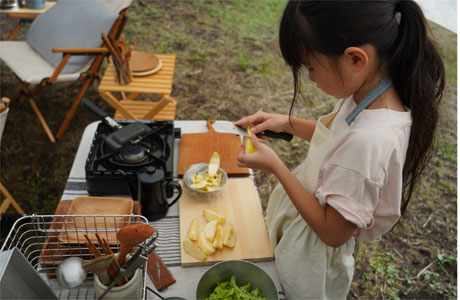
<instances>
[{"instance_id":1,"label":"folding camp chair with wooden armrests and pale fabric seat","mask_svg":"<svg viewBox=\"0 0 460 300\"><path fill-rule=\"evenodd\" d=\"M51 142L63 136L85 91L98 78L108 55L107 48L101 46L102 32L114 39L120 37L131 1L59 0L35 18L25 41L0 42L0 59L21 86L12 102L21 96L28 99ZM75 80L83 84L54 137L34 96L55 82Z\"/></svg>"}]
</instances>

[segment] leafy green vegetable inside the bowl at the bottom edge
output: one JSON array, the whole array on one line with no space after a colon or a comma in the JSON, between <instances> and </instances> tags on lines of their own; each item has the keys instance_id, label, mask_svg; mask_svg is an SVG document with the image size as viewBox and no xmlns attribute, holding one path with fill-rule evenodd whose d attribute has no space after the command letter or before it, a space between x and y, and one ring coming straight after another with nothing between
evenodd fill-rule
<instances>
[{"instance_id":1,"label":"leafy green vegetable inside the bowl at the bottom edge","mask_svg":"<svg viewBox=\"0 0 460 300\"><path fill-rule=\"evenodd\" d=\"M255 288L251 291L252 283L238 287L236 278L232 276L229 281L219 282L206 300L267 300L264 294Z\"/></svg>"}]
</instances>

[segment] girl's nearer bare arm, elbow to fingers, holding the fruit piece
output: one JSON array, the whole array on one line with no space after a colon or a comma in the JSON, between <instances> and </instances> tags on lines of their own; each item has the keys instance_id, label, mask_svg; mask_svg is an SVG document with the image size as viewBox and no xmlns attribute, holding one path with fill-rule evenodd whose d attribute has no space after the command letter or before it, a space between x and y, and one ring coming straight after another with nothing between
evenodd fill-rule
<instances>
[{"instance_id":1,"label":"girl's nearer bare arm, elbow to fingers, holding the fruit piece","mask_svg":"<svg viewBox=\"0 0 460 300\"><path fill-rule=\"evenodd\" d=\"M302 218L326 245L339 247L348 241L356 225L343 218L331 206L321 206L318 199L305 189L270 147L259 142L255 136L251 136L251 141L256 152L245 154L244 146L241 146L238 165L272 172Z\"/></svg>"}]
</instances>

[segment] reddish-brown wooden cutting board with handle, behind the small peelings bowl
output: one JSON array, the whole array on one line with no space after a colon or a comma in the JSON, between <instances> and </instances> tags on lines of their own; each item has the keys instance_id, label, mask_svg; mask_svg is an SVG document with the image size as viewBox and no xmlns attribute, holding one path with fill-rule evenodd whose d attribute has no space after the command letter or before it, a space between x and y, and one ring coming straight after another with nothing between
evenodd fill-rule
<instances>
[{"instance_id":1,"label":"reddish-brown wooden cutting board with handle, behind the small peelings bowl","mask_svg":"<svg viewBox=\"0 0 460 300\"><path fill-rule=\"evenodd\" d=\"M219 152L220 167L229 177L249 176L249 169L238 167L236 156L241 145L239 135L216 132L212 124L206 121L208 132L183 134L179 147L177 174L182 177L190 165L208 163L213 152Z\"/></svg>"}]
</instances>

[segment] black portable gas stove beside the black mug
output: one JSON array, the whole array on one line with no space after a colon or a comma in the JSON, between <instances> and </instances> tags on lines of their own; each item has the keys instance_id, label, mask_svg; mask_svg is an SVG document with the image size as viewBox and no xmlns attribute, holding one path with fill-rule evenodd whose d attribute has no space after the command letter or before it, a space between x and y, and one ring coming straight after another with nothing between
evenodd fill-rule
<instances>
[{"instance_id":1,"label":"black portable gas stove beside the black mug","mask_svg":"<svg viewBox=\"0 0 460 300\"><path fill-rule=\"evenodd\" d=\"M117 130L105 122L98 125L85 165L90 195L130 195L131 185L134 188L131 197L136 200L137 174L147 166L162 169L165 180L173 180L174 139L180 138L180 129L174 128L172 121L117 120L122 128L134 122L142 122L152 131L119 148L111 143L111 136ZM120 140L120 136L116 140ZM166 192L168 197L173 194L173 191Z\"/></svg>"}]
</instances>

